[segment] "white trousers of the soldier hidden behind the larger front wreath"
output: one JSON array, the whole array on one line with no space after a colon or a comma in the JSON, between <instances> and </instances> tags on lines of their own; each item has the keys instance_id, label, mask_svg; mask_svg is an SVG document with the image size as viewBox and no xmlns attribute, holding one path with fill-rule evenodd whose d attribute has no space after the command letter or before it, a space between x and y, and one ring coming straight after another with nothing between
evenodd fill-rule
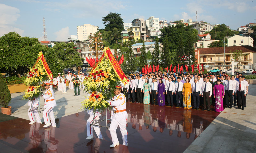
<instances>
[{"instance_id":1,"label":"white trousers of the soldier hidden behind the larger front wreath","mask_svg":"<svg viewBox=\"0 0 256 153\"><path fill-rule=\"evenodd\" d=\"M94 117L94 124L96 123L96 121L99 120L99 117L98 116L95 116ZM87 122L86 122L86 130L87 130L87 137L89 136L92 136L93 135L93 128L98 136L98 138L102 138L102 135L101 135L101 130L99 129L99 126L90 126L90 124L93 124L93 115L91 115ZM96 125L99 125L99 123L97 123Z\"/></svg>"}]
</instances>

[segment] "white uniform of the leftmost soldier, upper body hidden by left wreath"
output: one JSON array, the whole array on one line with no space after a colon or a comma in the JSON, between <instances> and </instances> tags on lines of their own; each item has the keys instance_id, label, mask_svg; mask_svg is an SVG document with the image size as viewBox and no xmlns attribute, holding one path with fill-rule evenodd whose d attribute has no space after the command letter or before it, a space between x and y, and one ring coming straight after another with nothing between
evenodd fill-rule
<instances>
[{"instance_id":1,"label":"white uniform of the leftmost soldier, upper body hidden by left wreath","mask_svg":"<svg viewBox=\"0 0 256 153\"><path fill-rule=\"evenodd\" d=\"M38 123L41 122L41 118L40 118L38 112L34 112L34 111L33 112L29 112L30 110L37 109L37 107L39 107L38 104L39 104L39 97L35 98L35 100L29 100L29 104L28 104L29 105L29 109L27 110L27 113L29 115L30 122L34 122L35 119L37 120Z\"/></svg>"}]
</instances>

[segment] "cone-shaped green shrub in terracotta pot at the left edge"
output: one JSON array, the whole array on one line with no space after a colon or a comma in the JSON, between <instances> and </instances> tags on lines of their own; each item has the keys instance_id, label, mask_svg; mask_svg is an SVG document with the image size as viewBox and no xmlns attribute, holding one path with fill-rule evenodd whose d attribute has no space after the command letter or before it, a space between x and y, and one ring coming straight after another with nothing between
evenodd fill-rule
<instances>
[{"instance_id":1,"label":"cone-shaped green shrub in terracotta pot at the left edge","mask_svg":"<svg viewBox=\"0 0 256 153\"><path fill-rule=\"evenodd\" d=\"M11 101L11 94L6 84L5 78L0 74L0 105L3 114L11 115L11 106L8 106Z\"/></svg>"}]
</instances>

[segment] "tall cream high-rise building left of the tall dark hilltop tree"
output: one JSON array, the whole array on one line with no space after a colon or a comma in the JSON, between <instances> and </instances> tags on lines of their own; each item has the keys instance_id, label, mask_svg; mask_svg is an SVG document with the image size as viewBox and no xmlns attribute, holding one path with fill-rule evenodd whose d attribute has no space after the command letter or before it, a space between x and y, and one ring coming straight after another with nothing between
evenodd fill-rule
<instances>
[{"instance_id":1,"label":"tall cream high-rise building left of the tall dark hilltop tree","mask_svg":"<svg viewBox=\"0 0 256 153\"><path fill-rule=\"evenodd\" d=\"M91 24L84 24L77 26L77 39L80 41L88 40L88 36L90 33L98 32L99 26L91 25Z\"/></svg>"}]
</instances>

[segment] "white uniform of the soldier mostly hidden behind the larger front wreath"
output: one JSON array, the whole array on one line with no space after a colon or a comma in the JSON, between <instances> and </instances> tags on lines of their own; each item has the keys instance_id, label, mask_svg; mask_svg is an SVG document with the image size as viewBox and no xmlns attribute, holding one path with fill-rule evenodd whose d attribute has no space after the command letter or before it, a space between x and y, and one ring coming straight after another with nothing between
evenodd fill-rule
<instances>
[{"instance_id":1,"label":"white uniform of the soldier mostly hidden behind the larger front wreath","mask_svg":"<svg viewBox=\"0 0 256 153\"><path fill-rule=\"evenodd\" d=\"M99 129L99 126L93 126L93 125L90 126L91 124L93 124L93 123L95 124L96 122L99 121L99 116L101 116L101 113L96 112L94 119L93 119L94 111L87 111L87 113L90 115L90 117L86 121L87 137L93 135L93 129L94 129L98 138L101 139L102 135L101 135L101 130ZM96 125L99 125L99 123L97 123Z\"/></svg>"}]
</instances>

